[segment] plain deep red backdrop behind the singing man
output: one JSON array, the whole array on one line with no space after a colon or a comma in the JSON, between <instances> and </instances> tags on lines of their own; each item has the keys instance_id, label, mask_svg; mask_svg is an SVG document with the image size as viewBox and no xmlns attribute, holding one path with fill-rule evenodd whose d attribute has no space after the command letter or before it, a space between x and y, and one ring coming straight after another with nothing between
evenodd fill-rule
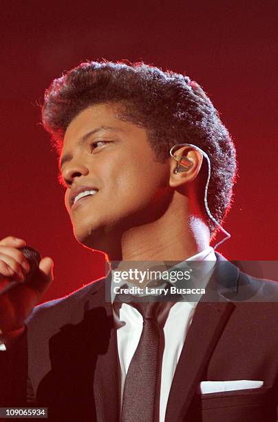
<instances>
[{"instance_id":1,"label":"plain deep red backdrop behind the singing man","mask_svg":"<svg viewBox=\"0 0 278 422\"><path fill-rule=\"evenodd\" d=\"M204 87L239 161L232 239L219 251L277 260L277 9L276 0L1 1L0 237L23 237L54 259L45 299L103 274L102 255L72 235L37 106L54 77L85 59L142 59Z\"/></svg>"}]
</instances>

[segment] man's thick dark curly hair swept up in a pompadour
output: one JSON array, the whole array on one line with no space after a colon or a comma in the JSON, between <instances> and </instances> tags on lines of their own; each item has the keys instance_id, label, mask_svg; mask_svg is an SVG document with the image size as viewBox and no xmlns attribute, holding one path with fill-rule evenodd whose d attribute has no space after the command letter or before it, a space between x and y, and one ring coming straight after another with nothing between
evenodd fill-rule
<instances>
[{"instance_id":1,"label":"man's thick dark curly hair swept up in a pompadour","mask_svg":"<svg viewBox=\"0 0 278 422\"><path fill-rule=\"evenodd\" d=\"M118 104L121 119L147 130L159 161L171 146L193 143L211 159L208 207L217 221L226 216L235 181L235 146L204 90L189 77L145 63L88 61L54 79L45 92L43 125L61 150L67 126L88 106ZM207 177L203 164L201 180ZM204 185L204 183L202 183ZM204 190L202 199L204 201ZM217 226L206 216L211 236Z\"/></svg>"}]
</instances>

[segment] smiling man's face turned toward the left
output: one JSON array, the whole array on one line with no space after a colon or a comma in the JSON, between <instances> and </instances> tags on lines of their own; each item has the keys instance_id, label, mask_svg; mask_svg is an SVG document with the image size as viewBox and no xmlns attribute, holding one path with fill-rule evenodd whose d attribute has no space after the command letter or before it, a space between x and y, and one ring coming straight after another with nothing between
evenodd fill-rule
<instances>
[{"instance_id":1,"label":"smiling man's face turned toward the left","mask_svg":"<svg viewBox=\"0 0 278 422\"><path fill-rule=\"evenodd\" d=\"M65 205L76 239L89 248L107 250L125 230L157 219L169 199L168 161L155 161L146 130L117 114L116 106L89 107L63 141Z\"/></svg>"}]
</instances>

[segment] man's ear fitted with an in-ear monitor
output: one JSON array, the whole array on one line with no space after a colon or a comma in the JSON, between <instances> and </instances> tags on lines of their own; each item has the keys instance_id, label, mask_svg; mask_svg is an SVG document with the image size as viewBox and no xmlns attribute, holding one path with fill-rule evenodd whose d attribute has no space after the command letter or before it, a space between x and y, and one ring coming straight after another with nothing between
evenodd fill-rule
<instances>
[{"instance_id":1,"label":"man's ear fitted with an in-ear monitor","mask_svg":"<svg viewBox=\"0 0 278 422\"><path fill-rule=\"evenodd\" d=\"M175 150L170 161L169 185L178 188L184 183L193 181L200 172L203 156L200 151L184 146Z\"/></svg>"}]
</instances>

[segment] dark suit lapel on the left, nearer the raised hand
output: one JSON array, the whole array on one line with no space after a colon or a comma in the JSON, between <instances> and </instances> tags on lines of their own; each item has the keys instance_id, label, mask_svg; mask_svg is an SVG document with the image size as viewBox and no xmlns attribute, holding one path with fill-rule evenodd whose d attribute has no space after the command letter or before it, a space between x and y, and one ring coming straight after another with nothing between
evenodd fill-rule
<instances>
[{"instance_id":1,"label":"dark suit lapel on the left, nearer the raised hand","mask_svg":"<svg viewBox=\"0 0 278 422\"><path fill-rule=\"evenodd\" d=\"M106 279L105 283L109 283ZM94 396L97 421L118 422L119 392L118 392L118 348L116 330L111 303L105 302L105 285L94 294L94 300L103 311L104 325L100 328L106 332L103 350L98 354L94 376ZM98 320L99 324L102 321ZM107 335L108 334L108 335ZM102 337L102 335L100 334ZM96 342L99 339L95 339Z\"/></svg>"}]
</instances>

